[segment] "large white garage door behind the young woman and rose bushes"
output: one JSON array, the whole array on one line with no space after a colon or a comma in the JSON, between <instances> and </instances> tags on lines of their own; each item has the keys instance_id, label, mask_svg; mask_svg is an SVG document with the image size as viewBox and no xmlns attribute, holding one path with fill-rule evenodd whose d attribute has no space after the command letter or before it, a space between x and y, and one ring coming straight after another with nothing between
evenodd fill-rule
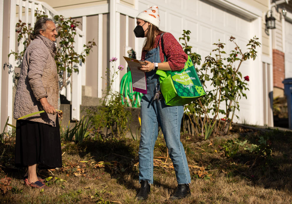
<instances>
[{"instance_id":1,"label":"large white garage door behind the young woman and rose bushes","mask_svg":"<svg viewBox=\"0 0 292 204\"><path fill-rule=\"evenodd\" d=\"M182 36L182 30L190 30L190 42L188 45L193 46L192 51L202 56L202 64L205 57L215 49L213 43L226 43L225 52L229 53L235 45L229 42L232 35L236 38L239 47L244 48L248 40L255 36L251 32L251 23L236 14L220 8L218 5L207 4L199 0L166 0L165 4L160 6L160 1L139 0L139 11L147 9L152 5L157 5L160 12L160 29L172 33L178 40ZM137 56L141 55L143 39L139 39L139 50ZM242 50L243 52L246 49ZM254 68L250 66L250 61L245 61L240 68L243 76L251 76ZM258 76L257 76L258 77ZM253 80L253 79L251 79ZM254 79L257 81L258 79ZM238 114L239 122L246 120L250 123L257 123L254 115L250 92L247 93L248 99L241 99L240 113ZM250 118L248 118L251 116ZM258 116L260 117L260 116ZM234 117L235 118L235 117ZM236 118L234 119L237 120Z\"/></svg>"}]
</instances>

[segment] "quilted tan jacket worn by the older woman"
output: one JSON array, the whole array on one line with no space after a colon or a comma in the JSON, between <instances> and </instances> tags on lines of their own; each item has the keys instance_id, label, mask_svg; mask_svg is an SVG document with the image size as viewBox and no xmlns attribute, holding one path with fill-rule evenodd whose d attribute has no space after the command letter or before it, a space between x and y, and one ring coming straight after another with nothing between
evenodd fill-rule
<instances>
[{"instance_id":1,"label":"quilted tan jacket worn by the older woman","mask_svg":"<svg viewBox=\"0 0 292 204\"><path fill-rule=\"evenodd\" d=\"M24 52L17 84L14 118L42 110L39 99L47 97L49 104L58 107L59 80L54 60L56 45L48 38L38 35ZM41 113L25 118L56 126L56 115Z\"/></svg>"}]
</instances>

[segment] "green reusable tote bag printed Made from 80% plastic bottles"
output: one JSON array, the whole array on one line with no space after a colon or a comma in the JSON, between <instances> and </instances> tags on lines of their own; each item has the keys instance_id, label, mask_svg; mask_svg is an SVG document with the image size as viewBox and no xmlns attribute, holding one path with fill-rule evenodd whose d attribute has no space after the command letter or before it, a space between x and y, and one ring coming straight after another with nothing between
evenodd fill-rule
<instances>
[{"instance_id":1,"label":"green reusable tote bag printed Made from 80% plastic bottles","mask_svg":"<svg viewBox=\"0 0 292 204\"><path fill-rule=\"evenodd\" d=\"M161 47L165 56L163 37L161 37ZM157 70L156 74L159 75L160 90L166 105L185 105L206 94L189 55L182 70Z\"/></svg>"}]
</instances>

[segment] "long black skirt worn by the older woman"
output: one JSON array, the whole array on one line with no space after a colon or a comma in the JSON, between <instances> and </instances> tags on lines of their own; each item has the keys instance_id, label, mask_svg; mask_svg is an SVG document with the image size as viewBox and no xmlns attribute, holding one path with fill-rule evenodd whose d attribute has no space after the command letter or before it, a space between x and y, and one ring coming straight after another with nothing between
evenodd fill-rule
<instances>
[{"instance_id":1,"label":"long black skirt worn by the older woman","mask_svg":"<svg viewBox=\"0 0 292 204\"><path fill-rule=\"evenodd\" d=\"M39 164L40 169L62 167L59 120L56 127L41 122L16 120L15 166Z\"/></svg>"}]
</instances>

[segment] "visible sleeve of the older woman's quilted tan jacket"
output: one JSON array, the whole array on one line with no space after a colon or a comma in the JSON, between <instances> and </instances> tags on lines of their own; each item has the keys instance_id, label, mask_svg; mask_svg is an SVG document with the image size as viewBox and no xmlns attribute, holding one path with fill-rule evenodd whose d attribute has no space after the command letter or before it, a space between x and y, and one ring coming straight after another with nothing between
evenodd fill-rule
<instances>
[{"instance_id":1,"label":"visible sleeve of the older woman's quilted tan jacket","mask_svg":"<svg viewBox=\"0 0 292 204\"><path fill-rule=\"evenodd\" d=\"M28 81L36 100L48 97L42 82L42 75L48 55L41 47L34 47L29 57Z\"/></svg>"}]
</instances>

